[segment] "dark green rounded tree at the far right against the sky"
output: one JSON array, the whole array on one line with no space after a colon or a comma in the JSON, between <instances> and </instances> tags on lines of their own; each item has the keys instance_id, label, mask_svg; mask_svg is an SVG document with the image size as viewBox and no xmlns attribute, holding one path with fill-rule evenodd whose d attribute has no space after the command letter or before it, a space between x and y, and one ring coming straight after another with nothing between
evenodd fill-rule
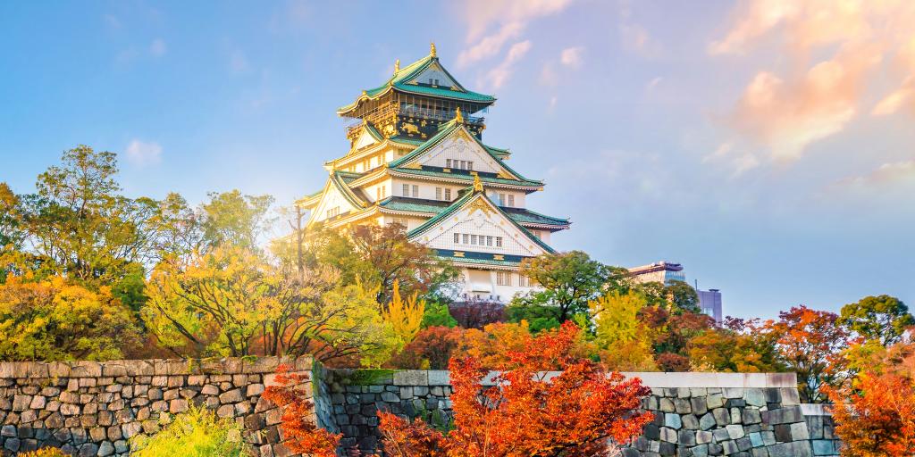
<instances>
[{"instance_id":1,"label":"dark green rounded tree at the far right against the sky","mask_svg":"<svg viewBox=\"0 0 915 457\"><path fill-rule=\"evenodd\" d=\"M915 325L915 318L909 314L909 307L896 297L879 295L867 296L843 306L838 324L847 326L865 339L892 345L899 341L906 328Z\"/></svg>"}]
</instances>

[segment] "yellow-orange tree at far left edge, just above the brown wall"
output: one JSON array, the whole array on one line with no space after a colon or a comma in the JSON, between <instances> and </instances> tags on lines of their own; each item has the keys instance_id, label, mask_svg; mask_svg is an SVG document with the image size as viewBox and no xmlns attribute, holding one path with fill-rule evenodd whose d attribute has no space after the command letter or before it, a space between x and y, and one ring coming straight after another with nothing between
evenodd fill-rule
<instances>
[{"instance_id":1,"label":"yellow-orange tree at far left edge, just above the brown wall","mask_svg":"<svg viewBox=\"0 0 915 457\"><path fill-rule=\"evenodd\" d=\"M2 360L107 360L136 341L133 315L107 287L92 292L31 272L0 284Z\"/></svg>"}]
</instances>

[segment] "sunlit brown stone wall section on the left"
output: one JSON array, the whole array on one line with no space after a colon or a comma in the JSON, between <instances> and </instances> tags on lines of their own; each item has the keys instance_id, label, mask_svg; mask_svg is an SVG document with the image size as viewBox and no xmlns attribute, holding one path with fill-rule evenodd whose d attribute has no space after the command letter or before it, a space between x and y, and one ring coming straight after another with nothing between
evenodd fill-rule
<instances>
[{"instance_id":1,"label":"sunlit brown stone wall section on the left","mask_svg":"<svg viewBox=\"0 0 915 457\"><path fill-rule=\"evenodd\" d=\"M261 399L280 363L303 374L313 365L309 356L0 363L0 455L43 446L127 455L131 438L155 433L191 404L237 420L259 455L287 455L280 411Z\"/></svg>"}]
</instances>

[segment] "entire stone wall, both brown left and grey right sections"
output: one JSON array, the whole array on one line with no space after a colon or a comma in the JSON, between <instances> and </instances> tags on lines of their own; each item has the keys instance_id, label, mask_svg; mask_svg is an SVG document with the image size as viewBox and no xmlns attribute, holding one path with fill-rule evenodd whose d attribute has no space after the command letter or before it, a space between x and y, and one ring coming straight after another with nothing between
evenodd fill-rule
<instances>
[{"instance_id":1,"label":"entire stone wall, both brown left and grey right sections","mask_svg":"<svg viewBox=\"0 0 915 457\"><path fill-rule=\"evenodd\" d=\"M314 419L342 432L346 448L377 448L379 409L440 424L451 416L447 371L331 370L310 357L0 363L0 454L52 445L126 455L130 438L155 433L198 403L238 420L256 454L286 456L280 411L261 399L280 363L312 375ZM820 405L800 404L793 374L626 375L651 388L643 407L655 415L626 457L838 454L832 418Z\"/></svg>"}]
</instances>

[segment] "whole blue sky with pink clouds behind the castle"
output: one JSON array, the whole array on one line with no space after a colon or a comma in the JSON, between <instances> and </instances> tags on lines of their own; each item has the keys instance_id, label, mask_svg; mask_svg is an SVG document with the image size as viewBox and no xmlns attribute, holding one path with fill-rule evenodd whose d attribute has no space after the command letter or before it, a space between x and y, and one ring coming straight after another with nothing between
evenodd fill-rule
<instances>
[{"instance_id":1,"label":"whole blue sky with pink clouds behind the castle","mask_svg":"<svg viewBox=\"0 0 915 457\"><path fill-rule=\"evenodd\" d=\"M682 262L727 314L915 304L915 4L0 4L0 180L79 143L130 196L289 204L344 154L337 107L436 42L499 101L487 143L572 218L560 250Z\"/></svg>"}]
</instances>

